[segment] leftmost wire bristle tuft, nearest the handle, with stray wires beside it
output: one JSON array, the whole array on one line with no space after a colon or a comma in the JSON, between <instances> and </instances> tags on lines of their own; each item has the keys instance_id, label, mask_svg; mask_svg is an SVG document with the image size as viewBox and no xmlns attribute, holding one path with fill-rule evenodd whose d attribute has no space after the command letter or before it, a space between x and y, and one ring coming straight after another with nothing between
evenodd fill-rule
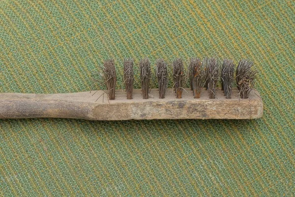
<instances>
[{"instance_id":1,"label":"leftmost wire bristle tuft, nearest the handle, with stray wires beside it","mask_svg":"<svg viewBox=\"0 0 295 197\"><path fill-rule=\"evenodd\" d=\"M107 86L107 95L110 100L115 99L115 90L116 90L116 68L114 60L106 60L103 67L103 78Z\"/></svg>"}]
</instances>

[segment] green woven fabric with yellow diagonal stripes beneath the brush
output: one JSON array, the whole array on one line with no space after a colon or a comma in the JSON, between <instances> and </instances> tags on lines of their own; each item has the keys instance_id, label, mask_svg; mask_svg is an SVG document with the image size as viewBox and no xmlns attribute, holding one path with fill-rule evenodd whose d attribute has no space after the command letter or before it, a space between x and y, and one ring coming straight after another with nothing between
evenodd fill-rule
<instances>
[{"instance_id":1,"label":"green woven fabric with yellow diagonal stripes beneath the brush","mask_svg":"<svg viewBox=\"0 0 295 197\"><path fill-rule=\"evenodd\" d=\"M264 100L251 121L0 120L0 196L295 195L294 27L295 1L0 1L0 92L89 91L109 57L121 88L123 58L217 56L254 61Z\"/></svg>"}]
</instances>

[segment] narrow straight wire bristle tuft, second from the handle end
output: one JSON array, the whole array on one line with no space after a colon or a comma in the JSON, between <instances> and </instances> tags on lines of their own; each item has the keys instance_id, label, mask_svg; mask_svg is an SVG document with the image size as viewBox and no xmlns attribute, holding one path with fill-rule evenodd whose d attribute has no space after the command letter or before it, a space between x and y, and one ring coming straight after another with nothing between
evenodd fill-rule
<instances>
[{"instance_id":1,"label":"narrow straight wire bristle tuft, second from the handle end","mask_svg":"<svg viewBox=\"0 0 295 197\"><path fill-rule=\"evenodd\" d=\"M125 84L127 99L132 99L133 81L134 81L133 59L131 58L124 59L124 84Z\"/></svg>"}]
</instances>

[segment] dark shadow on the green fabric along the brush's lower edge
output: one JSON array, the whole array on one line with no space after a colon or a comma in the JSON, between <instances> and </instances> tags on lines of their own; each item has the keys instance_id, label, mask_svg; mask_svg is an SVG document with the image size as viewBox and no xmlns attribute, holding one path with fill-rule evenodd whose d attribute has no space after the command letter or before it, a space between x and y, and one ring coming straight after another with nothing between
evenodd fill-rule
<instances>
[{"instance_id":1,"label":"dark shadow on the green fabric along the brush's lower edge","mask_svg":"<svg viewBox=\"0 0 295 197\"><path fill-rule=\"evenodd\" d=\"M28 132L35 130L45 135L86 138L92 145L98 142L120 143L125 141L150 144L210 144L212 140L224 142L238 137L247 138L259 120L128 120L89 121L77 119L7 119L0 120L2 128L10 131ZM17 128L23 128L19 130ZM5 129L4 129L5 130ZM1 131L7 132L7 131ZM48 133L46 133L48 132ZM20 135L21 136L21 135ZM124 142L124 143L125 143ZM69 143L74 143L69 141ZM146 144L147 145L147 144Z\"/></svg>"}]
</instances>

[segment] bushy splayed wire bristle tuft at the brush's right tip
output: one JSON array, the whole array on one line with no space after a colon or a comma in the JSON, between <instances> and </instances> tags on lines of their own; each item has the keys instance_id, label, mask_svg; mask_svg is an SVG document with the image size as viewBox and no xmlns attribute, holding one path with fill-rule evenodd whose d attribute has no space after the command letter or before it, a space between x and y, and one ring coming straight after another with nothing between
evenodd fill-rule
<instances>
[{"instance_id":1,"label":"bushy splayed wire bristle tuft at the brush's right tip","mask_svg":"<svg viewBox=\"0 0 295 197\"><path fill-rule=\"evenodd\" d=\"M236 68L236 84L241 99L247 99L254 87L254 79L256 78L257 70L251 69L253 64L253 62L247 59L242 59L239 61Z\"/></svg>"}]
</instances>

